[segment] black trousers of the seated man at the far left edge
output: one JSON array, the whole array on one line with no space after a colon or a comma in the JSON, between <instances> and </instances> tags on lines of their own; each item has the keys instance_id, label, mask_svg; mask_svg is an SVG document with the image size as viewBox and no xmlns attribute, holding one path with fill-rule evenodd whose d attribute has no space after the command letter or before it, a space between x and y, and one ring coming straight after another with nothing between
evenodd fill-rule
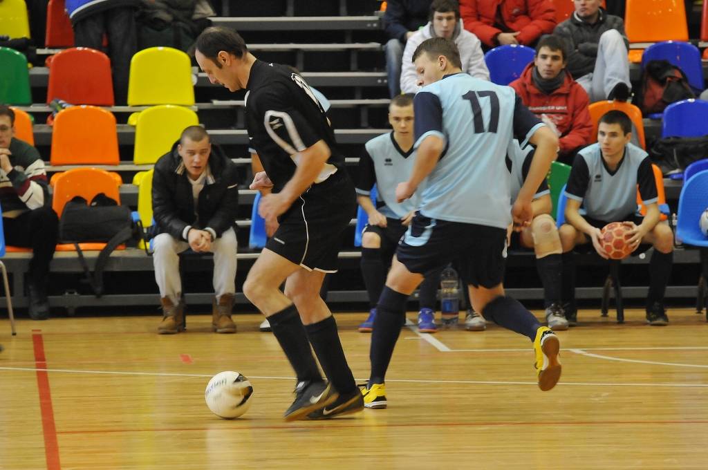
<instances>
[{"instance_id":1,"label":"black trousers of the seated man at the far left edge","mask_svg":"<svg viewBox=\"0 0 708 470\"><path fill-rule=\"evenodd\" d=\"M3 217L5 243L32 248L30 280L44 286L49 274L49 263L54 256L59 231L59 218L51 207L25 212L14 219Z\"/></svg>"}]
</instances>

